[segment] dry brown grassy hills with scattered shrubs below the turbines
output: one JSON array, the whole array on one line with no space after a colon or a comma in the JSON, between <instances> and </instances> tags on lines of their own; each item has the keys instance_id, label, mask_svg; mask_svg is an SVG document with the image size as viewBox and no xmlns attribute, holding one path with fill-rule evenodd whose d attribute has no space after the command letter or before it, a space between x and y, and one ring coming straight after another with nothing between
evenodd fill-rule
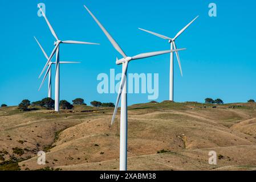
<instances>
[{"instance_id":1,"label":"dry brown grassy hills with scattered shrubs below the turbines","mask_svg":"<svg viewBox=\"0 0 256 182\"><path fill-rule=\"evenodd\" d=\"M255 170L256 104L147 103L128 108L129 170ZM118 170L113 109L0 109L0 170ZM120 112L119 112L120 114ZM45 166L37 152L47 151ZM216 151L217 165L208 164Z\"/></svg>"}]
</instances>

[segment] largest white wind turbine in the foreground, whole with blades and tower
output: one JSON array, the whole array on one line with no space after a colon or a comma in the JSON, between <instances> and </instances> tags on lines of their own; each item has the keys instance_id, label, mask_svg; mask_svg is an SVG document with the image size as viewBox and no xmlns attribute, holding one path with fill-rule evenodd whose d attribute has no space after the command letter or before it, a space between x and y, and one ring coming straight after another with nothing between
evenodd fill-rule
<instances>
[{"instance_id":1,"label":"largest white wind turbine in the foreground, whole with blades and tower","mask_svg":"<svg viewBox=\"0 0 256 182\"><path fill-rule=\"evenodd\" d=\"M165 53L170 53L174 51L181 51L184 49L175 49L175 50L169 50L169 51L158 51L158 52L149 52L149 53L141 53L139 55L129 57L125 55L124 51L121 49L121 47L116 43L116 41L112 38L112 36L105 30L105 28L102 26L102 24L99 22L99 20L96 19L96 17L91 13L91 11L84 5L88 13L94 18L95 22L99 25L101 30L104 32L104 34L107 36L108 40L111 42L113 47L116 49L117 52L119 52L123 58L117 59L116 58L116 64L122 64L123 65L123 71L122 71L122 77L119 87L119 93L117 95L115 110L113 113L111 125L113 125L115 121L115 116L117 112L117 108L119 105L120 97L121 97L121 115L120 115L120 171L126 171L127 170L127 68L129 61L137 60L137 59L144 59L146 57L152 57L157 55L162 55Z\"/></svg>"}]
</instances>

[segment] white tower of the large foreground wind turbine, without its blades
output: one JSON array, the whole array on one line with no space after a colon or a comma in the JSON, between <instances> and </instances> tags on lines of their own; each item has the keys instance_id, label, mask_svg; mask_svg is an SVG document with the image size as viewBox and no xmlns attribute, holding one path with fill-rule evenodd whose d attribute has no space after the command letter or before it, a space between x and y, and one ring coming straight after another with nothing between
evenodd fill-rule
<instances>
[{"instance_id":1,"label":"white tower of the large foreground wind turbine, without its blades","mask_svg":"<svg viewBox=\"0 0 256 182\"><path fill-rule=\"evenodd\" d=\"M124 63L123 63L124 73ZM125 83L121 94L121 117L120 117L120 171L127 171L127 72L125 72Z\"/></svg>"}]
</instances>

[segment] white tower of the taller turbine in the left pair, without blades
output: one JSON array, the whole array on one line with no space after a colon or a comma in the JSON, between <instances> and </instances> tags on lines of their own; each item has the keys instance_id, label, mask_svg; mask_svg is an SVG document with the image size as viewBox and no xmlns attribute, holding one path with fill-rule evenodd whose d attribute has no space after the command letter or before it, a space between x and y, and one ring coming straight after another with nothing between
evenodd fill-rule
<instances>
[{"instance_id":1,"label":"white tower of the taller turbine in the left pair, without blades","mask_svg":"<svg viewBox=\"0 0 256 182\"><path fill-rule=\"evenodd\" d=\"M59 112L59 47L56 50L55 111Z\"/></svg>"}]
</instances>

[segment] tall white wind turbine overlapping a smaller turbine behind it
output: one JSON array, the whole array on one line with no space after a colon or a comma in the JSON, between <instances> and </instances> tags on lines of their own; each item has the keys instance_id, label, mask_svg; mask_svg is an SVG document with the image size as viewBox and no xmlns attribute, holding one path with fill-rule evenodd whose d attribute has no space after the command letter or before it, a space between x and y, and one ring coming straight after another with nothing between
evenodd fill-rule
<instances>
[{"instance_id":1,"label":"tall white wind turbine overlapping a smaller turbine behind it","mask_svg":"<svg viewBox=\"0 0 256 182\"><path fill-rule=\"evenodd\" d=\"M90 42L80 42L80 41L74 41L74 40L65 40L62 41L58 38L58 36L56 35L54 29L52 28L50 22L48 21L46 15L44 14L43 10L41 9L41 7L38 5L38 8L40 9L44 19L46 20L46 23L48 24L48 27L50 28L50 31L52 33L52 35L54 36L54 38L56 39L56 42L54 42L54 49L50 55L50 57L47 60L46 65L44 65L44 68L42 70L42 72L40 73L39 78L43 75L43 72L46 70L47 65L50 63L52 57L54 56L54 54L56 53L56 71L55 71L55 111L59 112L59 45L60 44L94 44L96 45L97 43L90 43ZM98 44L97 44L98 45Z\"/></svg>"}]
</instances>

